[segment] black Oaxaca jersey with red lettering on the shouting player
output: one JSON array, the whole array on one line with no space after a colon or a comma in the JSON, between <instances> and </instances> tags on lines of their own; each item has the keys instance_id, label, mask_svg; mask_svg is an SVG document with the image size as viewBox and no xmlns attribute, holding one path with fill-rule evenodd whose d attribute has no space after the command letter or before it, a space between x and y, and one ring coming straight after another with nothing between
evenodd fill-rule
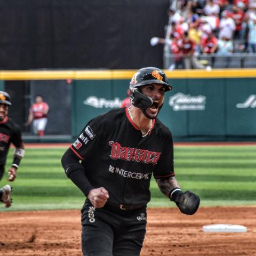
<instances>
[{"instance_id":1,"label":"black Oaxaca jersey with red lettering on the shouting player","mask_svg":"<svg viewBox=\"0 0 256 256\"><path fill-rule=\"evenodd\" d=\"M173 140L158 119L142 137L127 108L90 121L70 146L94 188L105 187L109 202L136 205L150 201L150 179L174 176Z\"/></svg>"}]
</instances>

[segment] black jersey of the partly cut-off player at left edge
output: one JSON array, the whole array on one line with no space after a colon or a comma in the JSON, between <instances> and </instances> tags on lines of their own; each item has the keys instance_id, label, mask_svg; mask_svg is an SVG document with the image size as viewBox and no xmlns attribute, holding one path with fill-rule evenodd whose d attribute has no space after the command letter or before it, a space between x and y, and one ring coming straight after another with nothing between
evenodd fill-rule
<instances>
[{"instance_id":1,"label":"black jersey of the partly cut-off player at left edge","mask_svg":"<svg viewBox=\"0 0 256 256\"><path fill-rule=\"evenodd\" d=\"M15 147L21 147L23 144L21 131L12 119L5 117L4 121L0 122L0 165L5 164L11 142Z\"/></svg>"}]
</instances>

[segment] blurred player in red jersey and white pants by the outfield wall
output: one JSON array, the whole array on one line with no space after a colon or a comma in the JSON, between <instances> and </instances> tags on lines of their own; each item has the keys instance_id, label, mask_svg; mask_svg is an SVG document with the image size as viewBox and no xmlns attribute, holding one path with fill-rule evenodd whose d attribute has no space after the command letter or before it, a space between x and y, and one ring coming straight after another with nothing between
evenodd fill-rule
<instances>
[{"instance_id":1,"label":"blurred player in red jersey and white pants by the outfield wall","mask_svg":"<svg viewBox=\"0 0 256 256\"><path fill-rule=\"evenodd\" d=\"M33 132L39 137L43 137L44 135L48 111L49 106L47 103L43 102L41 95L37 95L35 103L29 108L28 121L25 125L28 126L33 122Z\"/></svg>"}]
</instances>

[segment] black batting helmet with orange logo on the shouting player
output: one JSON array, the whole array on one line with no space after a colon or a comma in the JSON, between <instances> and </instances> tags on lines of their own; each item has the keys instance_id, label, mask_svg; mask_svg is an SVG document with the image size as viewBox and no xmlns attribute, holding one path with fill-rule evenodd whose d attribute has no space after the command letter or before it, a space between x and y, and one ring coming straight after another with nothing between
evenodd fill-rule
<instances>
[{"instance_id":1,"label":"black batting helmet with orange logo on the shouting player","mask_svg":"<svg viewBox=\"0 0 256 256\"><path fill-rule=\"evenodd\" d=\"M161 69L155 67L141 68L133 75L130 82L130 98L135 107L146 109L153 104L150 97L140 92L140 86L148 84L163 84L165 92L172 90L172 86L168 84L168 79Z\"/></svg>"}]
</instances>

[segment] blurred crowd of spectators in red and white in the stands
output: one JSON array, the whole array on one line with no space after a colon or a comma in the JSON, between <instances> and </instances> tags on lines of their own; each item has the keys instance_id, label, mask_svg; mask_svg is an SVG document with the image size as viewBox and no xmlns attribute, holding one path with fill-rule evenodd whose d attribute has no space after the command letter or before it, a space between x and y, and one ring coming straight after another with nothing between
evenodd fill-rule
<instances>
[{"instance_id":1,"label":"blurred crowd of spectators in red and white in the stands","mask_svg":"<svg viewBox=\"0 0 256 256\"><path fill-rule=\"evenodd\" d=\"M171 0L168 14L157 43L170 46L173 68L204 68L198 54L256 53L256 0Z\"/></svg>"}]
</instances>

